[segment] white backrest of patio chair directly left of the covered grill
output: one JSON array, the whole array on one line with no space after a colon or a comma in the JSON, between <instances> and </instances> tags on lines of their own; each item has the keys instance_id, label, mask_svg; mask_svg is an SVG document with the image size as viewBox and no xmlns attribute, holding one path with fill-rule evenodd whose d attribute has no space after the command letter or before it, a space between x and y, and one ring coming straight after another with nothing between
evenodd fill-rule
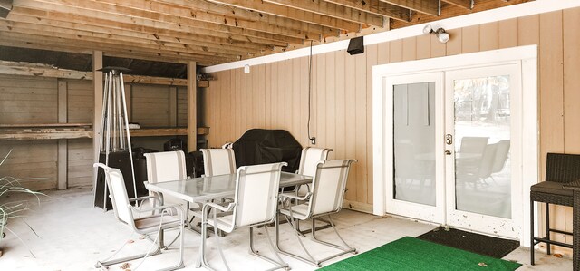
<instances>
[{"instance_id":1,"label":"white backrest of patio chair directly left of the covered grill","mask_svg":"<svg viewBox=\"0 0 580 271\"><path fill-rule=\"evenodd\" d=\"M205 176L236 173L236 156L232 149L199 149L203 154Z\"/></svg>"}]
</instances>

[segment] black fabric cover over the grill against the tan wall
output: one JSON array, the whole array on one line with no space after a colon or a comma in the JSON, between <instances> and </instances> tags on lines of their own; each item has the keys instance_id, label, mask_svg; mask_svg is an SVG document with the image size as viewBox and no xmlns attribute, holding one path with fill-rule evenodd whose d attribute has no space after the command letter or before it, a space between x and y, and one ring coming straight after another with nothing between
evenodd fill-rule
<instances>
[{"instance_id":1,"label":"black fabric cover over the grill against the tan wall","mask_svg":"<svg viewBox=\"0 0 580 271\"><path fill-rule=\"evenodd\" d=\"M287 162L282 171L295 172L300 165L302 146L285 130L251 129L246 131L233 147L236 164L250 166Z\"/></svg>"}]
</instances>

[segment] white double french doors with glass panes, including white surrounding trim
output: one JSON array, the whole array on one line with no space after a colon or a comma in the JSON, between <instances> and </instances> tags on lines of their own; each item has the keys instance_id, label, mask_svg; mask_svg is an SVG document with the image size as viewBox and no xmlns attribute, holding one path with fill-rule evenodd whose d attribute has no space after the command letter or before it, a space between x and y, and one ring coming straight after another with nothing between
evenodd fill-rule
<instances>
[{"instance_id":1,"label":"white double french doors with glass panes, including white surrounding trim","mask_svg":"<svg viewBox=\"0 0 580 271\"><path fill-rule=\"evenodd\" d=\"M526 245L536 47L470 55L373 69L373 212Z\"/></svg>"}]
</instances>

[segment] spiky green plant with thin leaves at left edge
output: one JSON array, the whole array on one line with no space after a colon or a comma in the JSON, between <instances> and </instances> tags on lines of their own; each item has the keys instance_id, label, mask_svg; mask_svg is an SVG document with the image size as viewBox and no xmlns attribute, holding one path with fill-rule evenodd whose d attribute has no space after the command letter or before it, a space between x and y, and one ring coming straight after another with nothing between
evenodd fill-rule
<instances>
[{"instance_id":1,"label":"spiky green plant with thin leaves at left edge","mask_svg":"<svg viewBox=\"0 0 580 271\"><path fill-rule=\"evenodd\" d=\"M8 158L12 150L8 151L5 158L0 161L0 167L4 164L5 160ZM45 178L29 178L29 179L45 179ZM31 189L26 189L22 186L21 180L25 179L16 179L12 176L2 176L0 177L0 243L2 243L2 239L5 237L5 231L10 232L17 237L23 244L24 240L18 235L16 235L9 227L8 221L14 218L22 218L24 216L24 212L29 209L30 201L27 199L14 199L11 200L11 196L14 194L28 194L33 195L36 198L36 202L40 204L39 196L44 196L43 193L38 191L33 191ZM24 220L23 220L24 221ZM29 227L34 235L38 236L34 231L33 227L30 227L26 221L24 221L27 227ZM27 246L26 246L27 247ZM30 251L30 248L28 249ZM32 251L30 251L31 255L34 256ZM0 254L1 255L1 254Z\"/></svg>"}]
</instances>

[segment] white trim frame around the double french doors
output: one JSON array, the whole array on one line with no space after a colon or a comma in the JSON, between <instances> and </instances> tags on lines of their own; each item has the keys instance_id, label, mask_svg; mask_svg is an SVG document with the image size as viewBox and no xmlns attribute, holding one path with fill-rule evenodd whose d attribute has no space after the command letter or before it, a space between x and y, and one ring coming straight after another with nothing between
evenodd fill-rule
<instances>
[{"instance_id":1,"label":"white trim frame around the double french doors","mask_svg":"<svg viewBox=\"0 0 580 271\"><path fill-rule=\"evenodd\" d=\"M529 187L536 183L539 176L538 167L538 113L537 113L537 45L519 46L507 49L479 53L464 53L459 55L430 58L403 63L390 63L372 67L372 155L373 155L373 209L372 213L383 216L386 213L387 187L392 175L385 166L392 156L392 150L386 149L387 129L385 125L386 87L388 76L435 73L467 67L479 67L498 63L520 62L522 66L522 113L525 116L521 131L526 136L521 143L522 157L522 190L521 208L517 208L521 219L519 240L523 246L529 247ZM392 135L391 135L392 136ZM514 191L515 192L515 191ZM536 216L537 217L537 216ZM537 225L537 223L536 223Z\"/></svg>"}]
</instances>

